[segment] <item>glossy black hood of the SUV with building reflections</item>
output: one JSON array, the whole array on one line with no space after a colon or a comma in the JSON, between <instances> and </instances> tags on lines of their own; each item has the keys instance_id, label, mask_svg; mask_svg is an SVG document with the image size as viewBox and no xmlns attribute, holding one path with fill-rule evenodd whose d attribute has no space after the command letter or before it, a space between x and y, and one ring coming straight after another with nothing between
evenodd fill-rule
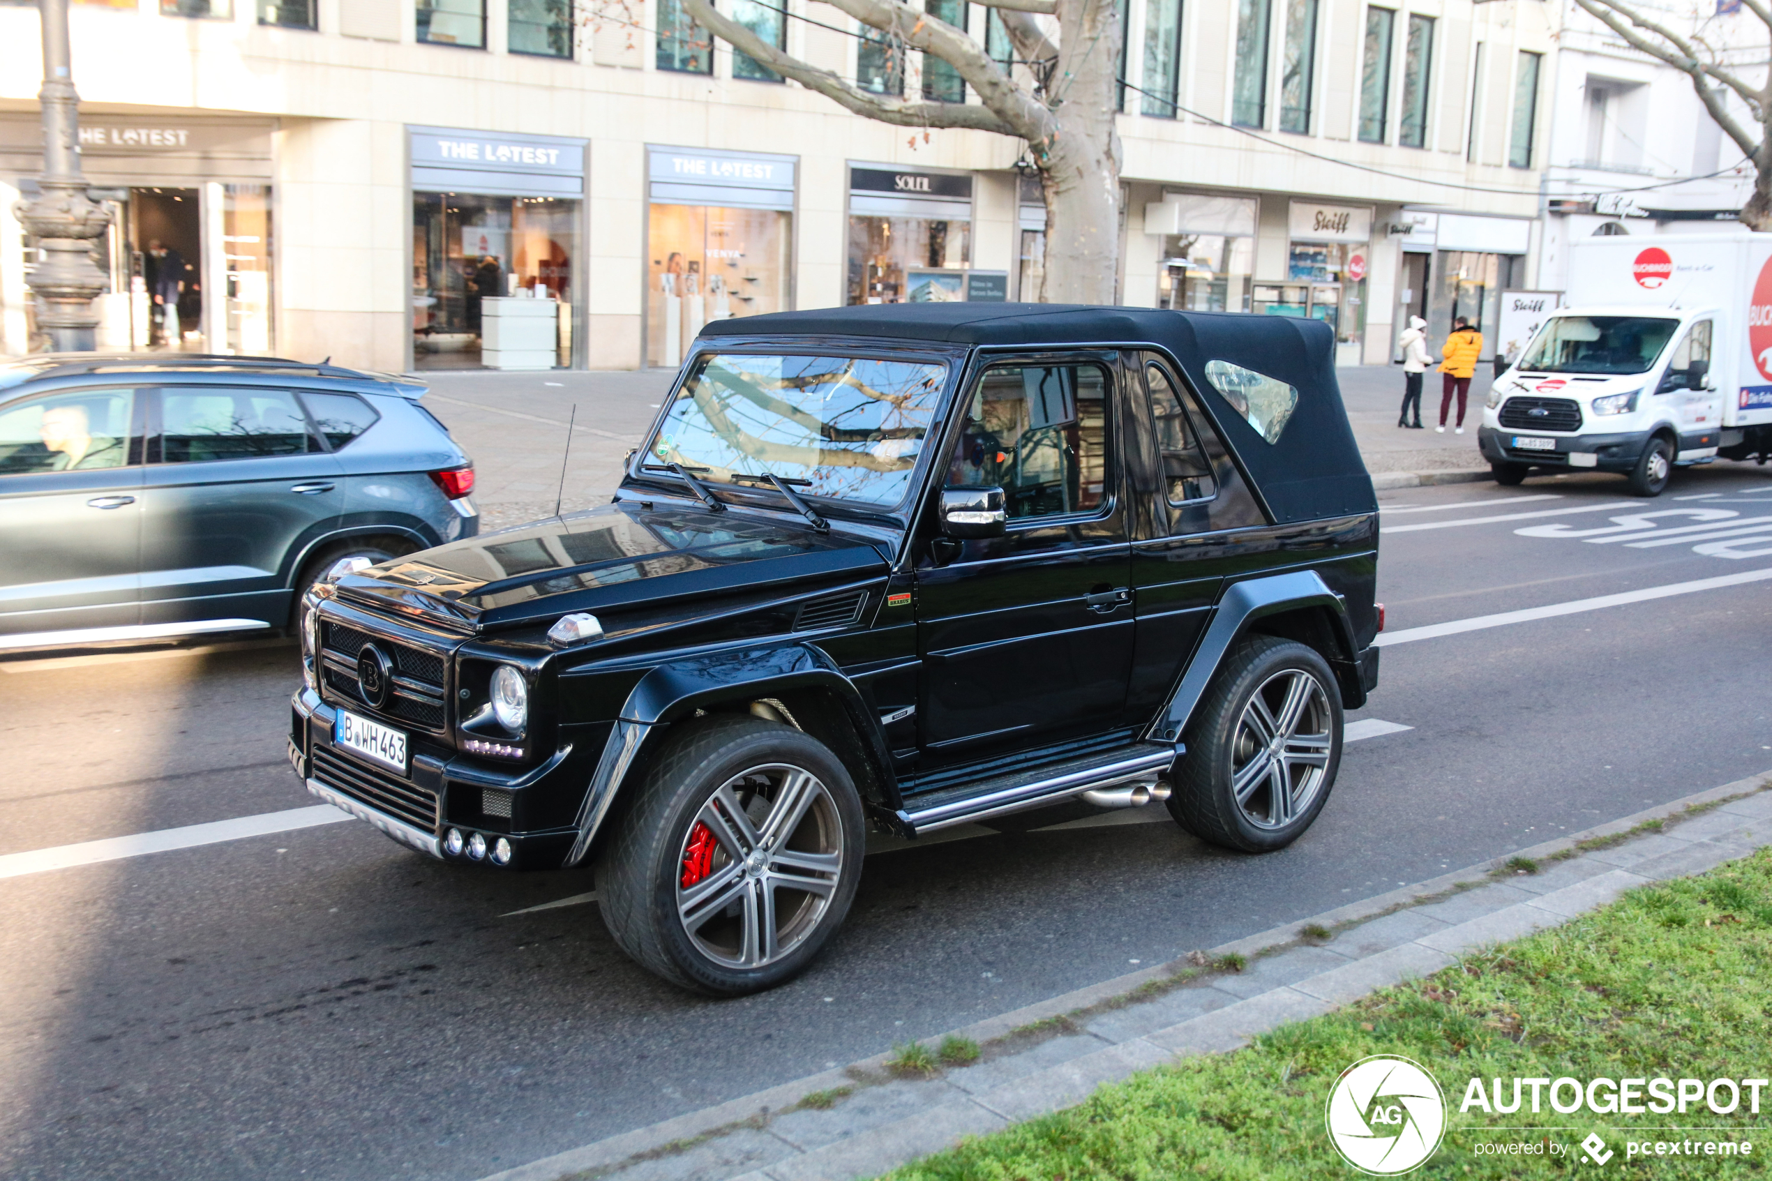
<instances>
[{"instance_id":1,"label":"glossy black hood of the SUV with building reflections","mask_svg":"<svg viewBox=\"0 0 1772 1181\"><path fill-rule=\"evenodd\" d=\"M346 575L340 595L501 627L886 570L868 542L794 521L634 501L486 533Z\"/></svg>"}]
</instances>

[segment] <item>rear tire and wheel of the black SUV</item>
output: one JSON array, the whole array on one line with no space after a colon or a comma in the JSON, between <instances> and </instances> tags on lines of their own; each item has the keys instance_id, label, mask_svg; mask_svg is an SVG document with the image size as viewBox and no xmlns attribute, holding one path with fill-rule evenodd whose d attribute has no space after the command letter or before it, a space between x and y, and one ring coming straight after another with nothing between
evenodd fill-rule
<instances>
[{"instance_id":1,"label":"rear tire and wheel of the black SUV","mask_svg":"<svg viewBox=\"0 0 1772 1181\"><path fill-rule=\"evenodd\" d=\"M1308 699L1290 731L1279 774L1255 774L1253 786L1239 802L1239 776L1256 768L1256 760L1262 758L1272 765L1274 747L1263 747L1258 722L1246 719L1253 699L1262 692L1263 708L1272 715L1276 687L1290 691L1297 683L1292 678L1297 676L1313 682L1315 692L1301 689ZM1274 721L1285 722L1283 714L1285 710ZM1341 691L1329 662L1290 639L1244 637L1200 703L1185 744L1187 754L1177 765L1175 793L1168 802L1178 825L1203 841L1246 853L1267 853L1292 845L1329 800L1341 765ZM1320 767L1313 767L1318 747L1325 751L1325 758ZM1299 774L1299 767L1306 770ZM1320 774L1313 776L1311 770ZM1286 788L1276 800L1281 779ZM1265 820L1255 816L1260 811L1267 813Z\"/></svg>"}]
</instances>

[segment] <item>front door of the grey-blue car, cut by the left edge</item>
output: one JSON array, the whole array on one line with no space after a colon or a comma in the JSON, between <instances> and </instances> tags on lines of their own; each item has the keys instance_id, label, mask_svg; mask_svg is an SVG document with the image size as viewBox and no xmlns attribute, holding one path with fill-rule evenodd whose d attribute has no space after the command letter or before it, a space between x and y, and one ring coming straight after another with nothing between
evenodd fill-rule
<instances>
[{"instance_id":1,"label":"front door of the grey-blue car, cut by the left edge","mask_svg":"<svg viewBox=\"0 0 1772 1181\"><path fill-rule=\"evenodd\" d=\"M133 627L142 607L135 390L0 409L0 648L7 637Z\"/></svg>"}]
</instances>

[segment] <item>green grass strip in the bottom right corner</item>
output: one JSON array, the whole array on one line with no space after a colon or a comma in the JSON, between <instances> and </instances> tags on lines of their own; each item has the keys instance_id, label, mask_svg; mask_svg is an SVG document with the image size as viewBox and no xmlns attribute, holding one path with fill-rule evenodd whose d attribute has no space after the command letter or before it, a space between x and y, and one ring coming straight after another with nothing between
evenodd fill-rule
<instances>
[{"instance_id":1,"label":"green grass strip in the bottom right corner","mask_svg":"<svg viewBox=\"0 0 1772 1181\"><path fill-rule=\"evenodd\" d=\"M1595 1170L1577 1144L1597 1131L1627 1176L1772 1174L1772 1089L1717 1115L1460 1112L1473 1077L1765 1078L1772 1073L1772 850L1628 892L1559 928L1464 958L1336 1013L1283 1025L1249 1046L1177 1062L1099 1089L1086 1103L962 1142L893 1181L1120 1181L1357 1176L1329 1144L1336 1078L1372 1054L1428 1068L1448 1131L1412 1177L1550 1177ZM1504 1131L1535 1124L1540 1130ZM1641 1131L1632 1131L1643 1128ZM1650 1130L1653 1128L1653 1130ZM1705 1130L1705 1131L1683 1131ZM1753 1154L1627 1160L1625 1139L1753 1140ZM1476 1154L1549 1142L1565 1154Z\"/></svg>"}]
</instances>

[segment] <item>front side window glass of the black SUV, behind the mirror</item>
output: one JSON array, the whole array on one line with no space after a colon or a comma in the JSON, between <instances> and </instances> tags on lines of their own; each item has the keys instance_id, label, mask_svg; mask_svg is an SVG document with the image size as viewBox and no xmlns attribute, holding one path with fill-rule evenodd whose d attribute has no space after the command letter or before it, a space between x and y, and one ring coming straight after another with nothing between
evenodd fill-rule
<instances>
[{"instance_id":1,"label":"front side window glass of the black SUV, behind the mirror","mask_svg":"<svg viewBox=\"0 0 1772 1181\"><path fill-rule=\"evenodd\" d=\"M948 487L1001 487L1012 521L1108 499L1108 370L992 365L973 388Z\"/></svg>"}]
</instances>

